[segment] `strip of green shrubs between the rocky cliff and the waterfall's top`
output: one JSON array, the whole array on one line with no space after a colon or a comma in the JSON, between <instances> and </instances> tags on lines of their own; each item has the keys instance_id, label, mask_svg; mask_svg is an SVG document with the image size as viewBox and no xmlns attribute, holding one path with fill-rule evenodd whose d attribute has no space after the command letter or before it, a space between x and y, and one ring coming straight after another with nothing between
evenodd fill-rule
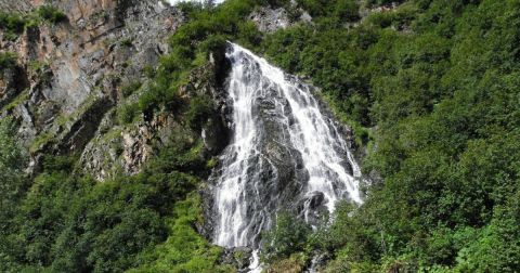
<instances>
[{"instance_id":1,"label":"strip of green shrubs between the rocky cliff and the waterfall's top","mask_svg":"<svg viewBox=\"0 0 520 273\"><path fill-rule=\"evenodd\" d=\"M258 42L258 30L252 23L245 23L245 16L252 11L255 2L226 1L218 8L205 10L193 3L182 3L179 8L188 22L182 25L170 38L172 53L160 60L154 84L140 99L144 113L166 106L169 110L182 108L179 88L186 83L190 72L202 66L197 56L207 60L210 52L225 47L226 40L245 44Z\"/></svg>"}]
</instances>

